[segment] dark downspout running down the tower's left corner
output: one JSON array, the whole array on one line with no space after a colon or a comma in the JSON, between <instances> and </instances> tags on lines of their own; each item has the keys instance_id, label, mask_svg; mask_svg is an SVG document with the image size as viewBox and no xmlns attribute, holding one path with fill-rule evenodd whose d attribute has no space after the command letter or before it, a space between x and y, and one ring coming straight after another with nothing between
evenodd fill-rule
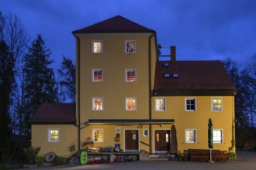
<instances>
[{"instance_id":1,"label":"dark downspout running down the tower's left corner","mask_svg":"<svg viewBox=\"0 0 256 170\"><path fill-rule=\"evenodd\" d=\"M74 35L74 32L73 32L73 35ZM80 38L78 36L75 36L74 37L76 39L78 39L78 97L77 97L77 103L78 103L78 151L80 151L81 149L81 145L80 145L80 139L81 139L81 132L80 132L80 128L81 128L81 118L80 118Z\"/></svg>"}]
</instances>

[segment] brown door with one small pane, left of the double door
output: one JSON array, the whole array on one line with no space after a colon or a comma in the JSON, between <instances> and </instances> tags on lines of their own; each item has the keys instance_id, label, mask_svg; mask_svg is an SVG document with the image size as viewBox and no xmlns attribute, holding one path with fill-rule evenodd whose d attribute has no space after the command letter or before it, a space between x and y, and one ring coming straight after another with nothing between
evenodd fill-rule
<instances>
[{"instance_id":1,"label":"brown door with one small pane, left of the double door","mask_svg":"<svg viewBox=\"0 0 256 170\"><path fill-rule=\"evenodd\" d=\"M139 151L139 131L125 130L125 151Z\"/></svg>"}]
</instances>

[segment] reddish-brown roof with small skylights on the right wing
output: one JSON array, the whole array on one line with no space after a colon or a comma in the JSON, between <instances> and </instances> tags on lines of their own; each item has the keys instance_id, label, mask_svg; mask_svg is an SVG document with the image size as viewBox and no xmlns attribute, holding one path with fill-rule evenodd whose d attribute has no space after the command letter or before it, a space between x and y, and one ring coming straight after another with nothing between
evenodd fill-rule
<instances>
[{"instance_id":1,"label":"reddish-brown roof with small skylights on the right wing","mask_svg":"<svg viewBox=\"0 0 256 170\"><path fill-rule=\"evenodd\" d=\"M169 66L164 66L168 63ZM169 77L164 77L169 74ZM175 75L174 75L175 74ZM154 95L234 95L234 84L220 62L157 61Z\"/></svg>"}]
</instances>

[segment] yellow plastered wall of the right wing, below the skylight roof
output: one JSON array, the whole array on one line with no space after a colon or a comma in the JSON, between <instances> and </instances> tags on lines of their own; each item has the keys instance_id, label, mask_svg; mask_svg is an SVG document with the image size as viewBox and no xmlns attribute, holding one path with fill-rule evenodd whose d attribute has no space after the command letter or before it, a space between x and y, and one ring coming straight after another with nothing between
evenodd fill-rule
<instances>
[{"instance_id":1,"label":"yellow plastered wall of the right wing, below the skylight roof","mask_svg":"<svg viewBox=\"0 0 256 170\"><path fill-rule=\"evenodd\" d=\"M174 119L178 141L178 150L183 151L189 148L208 148L208 121L213 121L213 130L223 130L223 143L214 144L214 149L228 151L232 140L232 121L234 122L234 97L214 96L223 99L223 110L213 112L211 110L211 96L195 96L196 110L185 111L185 98L187 97L164 97L166 98L166 111L155 111L152 98L153 119ZM190 98L190 97L188 97ZM196 130L196 142L185 143L185 129Z\"/></svg>"}]
</instances>

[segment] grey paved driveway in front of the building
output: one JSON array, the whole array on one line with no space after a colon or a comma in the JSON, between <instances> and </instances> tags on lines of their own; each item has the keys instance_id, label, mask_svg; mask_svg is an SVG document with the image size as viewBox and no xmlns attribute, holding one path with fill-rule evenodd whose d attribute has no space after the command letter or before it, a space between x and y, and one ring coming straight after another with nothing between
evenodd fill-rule
<instances>
[{"instance_id":1,"label":"grey paved driveway in front of the building","mask_svg":"<svg viewBox=\"0 0 256 170\"><path fill-rule=\"evenodd\" d=\"M255 170L256 169L256 151L237 151L238 161L230 162L176 162L176 161L141 161L141 162L123 162L102 165L79 165L73 167L51 167L69 169L218 169L218 170ZM31 168L30 168L31 169ZM43 168L40 168L43 169Z\"/></svg>"}]
</instances>

